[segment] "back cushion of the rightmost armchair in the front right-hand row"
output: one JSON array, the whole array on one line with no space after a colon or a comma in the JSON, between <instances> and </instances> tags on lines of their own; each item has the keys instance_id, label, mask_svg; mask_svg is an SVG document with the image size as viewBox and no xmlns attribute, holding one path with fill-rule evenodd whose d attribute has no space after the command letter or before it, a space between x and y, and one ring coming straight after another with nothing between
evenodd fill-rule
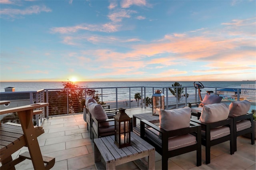
<instances>
[{"instance_id":1,"label":"back cushion of the rightmost armchair in the front right-hand row","mask_svg":"<svg viewBox=\"0 0 256 170\"><path fill-rule=\"evenodd\" d=\"M246 115L250 110L251 103L248 100L232 102L229 105L229 116L237 117L241 115Z\"/></svg>"}]
</instances>

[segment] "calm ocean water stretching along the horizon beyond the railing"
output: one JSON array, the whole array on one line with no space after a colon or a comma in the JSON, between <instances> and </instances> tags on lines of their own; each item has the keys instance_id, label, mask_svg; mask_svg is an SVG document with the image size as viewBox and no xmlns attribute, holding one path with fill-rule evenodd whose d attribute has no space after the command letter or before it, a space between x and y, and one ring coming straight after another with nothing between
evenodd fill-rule
<instances>
[{"instance_id":1,"label":"calm ocean water stretching along the horizon beyond the railing","mask_svg":"<svg viewBox=\"0 0 256 170\"><path fill-rule=\"evenodd\" d=\"M178 81L182 87L194 87L194 81ZM241 87L241 84L255 84L256 81L201 81L204 87ZM97 87L172 87L174 81L79 81L75 82L79 86L88 88ZM4 88L14 87L15 91L37 91L40 89L60 89L63 88L61 81L41 81L41 82L0 82L0 92ZM205 89L207 90L207 88Z\"/></svg>"}]
</instances>

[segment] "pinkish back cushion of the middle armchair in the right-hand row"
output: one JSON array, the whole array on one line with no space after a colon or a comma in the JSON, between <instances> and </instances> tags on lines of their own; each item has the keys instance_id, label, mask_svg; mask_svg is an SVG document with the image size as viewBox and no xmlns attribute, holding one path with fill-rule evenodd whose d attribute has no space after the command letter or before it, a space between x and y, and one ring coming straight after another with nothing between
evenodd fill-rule
<instances>
[{"instance_id":1,"label":"pinkish back cushion of the middle armchair in the right-hand row","mask_svg":"<svg viewBox=\"0 0 256 170\"><path fill-rule=\"evenodd\" d=\"M204 105L199 121L213 123L223 121L228 118L229 106L225 103L215 103Z\"/></svg>"}]
</instances>

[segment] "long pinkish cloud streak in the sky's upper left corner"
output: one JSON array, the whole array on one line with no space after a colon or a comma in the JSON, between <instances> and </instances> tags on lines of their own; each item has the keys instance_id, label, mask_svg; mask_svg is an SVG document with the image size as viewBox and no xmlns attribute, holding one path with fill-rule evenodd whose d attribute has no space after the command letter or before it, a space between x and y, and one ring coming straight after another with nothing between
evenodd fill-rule
<instances>
[{"instance_id":1,"label":"long pinkish cloud streak in the sky's upper left corner","mask_svg":"<svg viewBox=\"0 0 256 170\"><path fill-rule=\"evenodd\" d=\"M13 8L4 8L0 10L1 15L8 15L14 17L16 15L31 15L31 14L39 14L41 12L51 12L52 10L46 6L30 6L24 10L13 9Z\"/></svg>"}]
</instances>

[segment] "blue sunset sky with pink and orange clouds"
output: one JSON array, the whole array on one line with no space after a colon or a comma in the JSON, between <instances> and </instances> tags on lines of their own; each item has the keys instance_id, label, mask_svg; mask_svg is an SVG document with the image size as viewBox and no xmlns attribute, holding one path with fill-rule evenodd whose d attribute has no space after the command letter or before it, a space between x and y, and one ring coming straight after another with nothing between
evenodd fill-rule
<instances>
[{"instance_id":1,"label":"blue sunset sky with pink and orange clouds","mask_svg":"<svg viewBox=\"0 0 256 170\"><path fill-rule=\"evenodd\" d=\"M0 0L0 81L256 80L255 0Z\"/></svg>"}]
</instances>

